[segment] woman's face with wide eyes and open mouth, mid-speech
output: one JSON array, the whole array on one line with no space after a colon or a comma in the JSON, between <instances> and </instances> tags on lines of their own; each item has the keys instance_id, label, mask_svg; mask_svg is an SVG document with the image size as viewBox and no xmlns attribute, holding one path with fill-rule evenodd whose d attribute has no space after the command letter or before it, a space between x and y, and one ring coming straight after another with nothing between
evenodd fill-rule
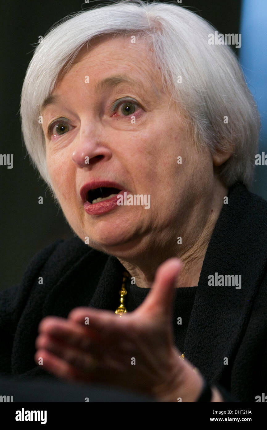
<instances>
[{"instance_id":1,"label":"woman's face with wide eyes and open mouth, mid-speech","mask_svg":"<svg viewBox=\"0 0 267 430\"><path fill-rule=\"evenodd\" d=\"M176 243L209 212L212 157L192 144L159 72L142 40L104 38L72 65L42 111L48 171L64 215L83 241L114 255L159 238ZM115 204L101 212L97 203L88 213L80 190L93 181L150 195L150 207Z\"/></svg>"}]
</instances>

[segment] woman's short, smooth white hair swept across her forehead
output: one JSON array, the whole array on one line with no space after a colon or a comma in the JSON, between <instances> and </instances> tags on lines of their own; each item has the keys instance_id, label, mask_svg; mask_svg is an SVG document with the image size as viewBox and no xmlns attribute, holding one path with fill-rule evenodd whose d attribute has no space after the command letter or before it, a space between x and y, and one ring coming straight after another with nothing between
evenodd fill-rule
<instances>
[{"instance_id":1,"label":"woman's short, smooth white hair swept across her forehead","mask_svg":"<svg viewBox=\"0 0 267 430\"><path fill-rule=\"evenodd\" d=\"M162 86L187 114L193 140L214 153L231 151L220 177L250 186L258 149L260 118L232 49L210 45L215 28L194 12L169 3L115 1L77 12L57 23L36 47L21 92L24 142L33 164L53 190L46 166L40 107L79 50L109 34L139 35L152 46ZM182 82L178 83L178 77ZM228 123L224 118L228 117Z\"/></svg>"}]
</instances>

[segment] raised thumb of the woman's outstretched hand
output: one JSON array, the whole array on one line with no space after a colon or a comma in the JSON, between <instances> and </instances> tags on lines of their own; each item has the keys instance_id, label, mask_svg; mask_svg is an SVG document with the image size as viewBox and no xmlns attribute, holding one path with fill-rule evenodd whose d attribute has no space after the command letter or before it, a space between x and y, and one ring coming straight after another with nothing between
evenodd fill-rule
<instances>
[{"instance_id":1,"label":"raised thumb of the woman's outstretched hand","mask_svg":"<svg viewBox=\"0 0 267 430\"><path fill-rule=\"evenodd\" d=\"M172 317L176 279L182 270L182 262L170 258L158 267L151 292L137 308L138 312L155 316Z\"/></svg>"}]
</instances>

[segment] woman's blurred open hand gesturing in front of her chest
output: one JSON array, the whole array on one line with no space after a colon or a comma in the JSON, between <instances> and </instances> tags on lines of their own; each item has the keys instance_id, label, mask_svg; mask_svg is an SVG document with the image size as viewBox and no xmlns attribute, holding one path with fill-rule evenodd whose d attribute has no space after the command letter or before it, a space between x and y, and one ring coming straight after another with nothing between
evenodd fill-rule
<instances>
[{"instance_id":1,"label":"woman's blurred open hand gesturing in front of her chest","mask_svg":"<svg viewBox=\"0 0 267 430\"><path fill-rule=\"evenodd\" d=\"M67 380L109 384L160 401L194 402L203 379L179 359L173 344L173 296L181 267L176 258L161 264L146 300L121 317L81 307L68 319L42 319L36 363L42 357L44 368Z\"/></svg>"}]
</instances>

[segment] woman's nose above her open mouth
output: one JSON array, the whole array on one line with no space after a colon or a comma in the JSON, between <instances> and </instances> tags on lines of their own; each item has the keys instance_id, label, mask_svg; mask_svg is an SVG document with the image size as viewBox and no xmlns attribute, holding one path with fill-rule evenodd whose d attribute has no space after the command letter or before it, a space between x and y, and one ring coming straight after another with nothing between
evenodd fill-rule
<instances>
[{"instance_id":1,"label":"woman's nose above her open mouth","mask_svg":"<svg viewBox=\"0 0 267 430\"><path fill-rule=\"evenodd\" d=\"M75 141L75 148L72 152L73 163L78 167L93 166L100 160L109 160L112 153L103 141L96 136L92 129L81 130Z\"/></svg>"}]
</instances>

